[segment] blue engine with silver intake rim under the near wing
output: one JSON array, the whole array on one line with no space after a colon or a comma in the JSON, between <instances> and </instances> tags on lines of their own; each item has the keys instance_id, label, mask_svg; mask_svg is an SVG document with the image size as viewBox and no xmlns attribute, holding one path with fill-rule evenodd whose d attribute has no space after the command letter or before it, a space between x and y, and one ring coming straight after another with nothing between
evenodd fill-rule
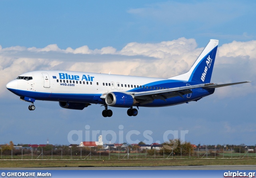
<instances>
[{"instance_id":1,"label":"blue engine with silver intake rim under the near wing","mask_svg":"<svg viewBox=\"0 0 256 178\"><path fill-rule=\"evenodd\" d=\"M132 95L121 92L110 92L106 95L105 102L108 106L113 107L132 107L136 104L136 100Z\"/></svg>"}]
</instances>

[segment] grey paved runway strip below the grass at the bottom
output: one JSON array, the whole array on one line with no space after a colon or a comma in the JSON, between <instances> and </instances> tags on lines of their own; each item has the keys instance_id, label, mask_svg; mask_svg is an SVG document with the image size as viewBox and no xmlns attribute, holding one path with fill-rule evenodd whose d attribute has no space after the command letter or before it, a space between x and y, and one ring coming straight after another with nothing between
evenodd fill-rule
<instances>
[{"instance_id":1,"label":"grey paved runway strip below the grass at the bottom","mask_svg":"<svg viewBox=\"0 0 256 178\"><path fill-rule=\"evenodd\" d=\"M256 165L0 168L0 170L256 170Z\"/></svg>"}]
</instances>

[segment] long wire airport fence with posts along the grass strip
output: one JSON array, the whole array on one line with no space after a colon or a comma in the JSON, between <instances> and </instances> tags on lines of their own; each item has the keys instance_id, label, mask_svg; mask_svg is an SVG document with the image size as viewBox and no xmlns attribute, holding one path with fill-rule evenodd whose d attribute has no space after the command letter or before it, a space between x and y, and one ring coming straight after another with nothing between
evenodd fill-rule
<instances>
[{"instance_id":1,"label":"long wire airport fence with posts along the grass strip","mask_svg":"<svg viewBox=\"0 0 256 178\"><path fill-rule=\"evenodd\" d=\"M179 154L173 152L160 152L159 150L94 150L93 148L53 148L51 150L41 149L12 149L2 150L1 159L206 159L206 158L256 158L256 153L234 152L234 150L192 150L188 153Z\"/></svg>"}]
</instances>

